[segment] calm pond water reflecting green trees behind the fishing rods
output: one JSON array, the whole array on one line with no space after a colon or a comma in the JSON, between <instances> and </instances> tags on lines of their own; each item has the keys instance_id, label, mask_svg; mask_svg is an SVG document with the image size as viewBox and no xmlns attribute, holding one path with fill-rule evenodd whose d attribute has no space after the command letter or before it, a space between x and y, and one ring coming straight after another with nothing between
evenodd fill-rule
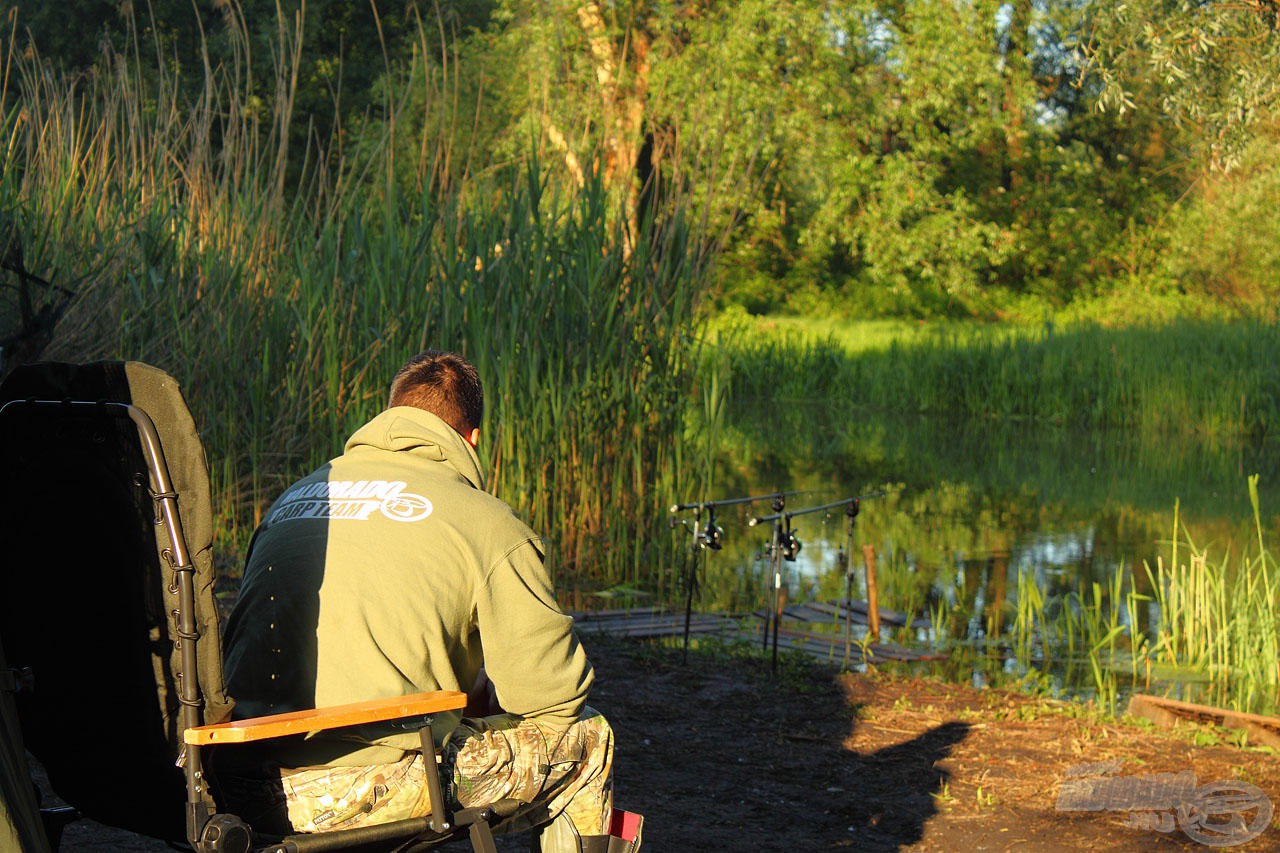
<instances>
[{"instance_id":1,"label":"calm pond water reflecting green trees behind the fishing rods","mask_svg":"<svg viewBox=\"0 0 1280 853\"><path fill-rule=\"evenodd\" d=\"M947 651L948 661L931 666L978 684L1030 680L1057 694L1101 693L1111 703L1133 689L1224 701L1188 672L1143 672L1135 685L1126 678L1123 638L1101 661L1102 670L1119 676L1102 678L1085 649L1051 642L1038 629L1024 630L1019 640L1019 613L1027 624L1034 587L1044 613L1080 615L1093 605L1096 619L1149 635L1161 613L1143 598L1152 596L1147 569L1170 562L1175 505L1183 535L1211 560L1251 547L1256 553L1251 474L1260 475L1268 549L1280 530L1280 456L1267 443L948 424L851 415L829 403L739 405L713 442L710 494L690 501L794 491L801 493L787 497L786 511L800 512L887 489L863 501L856 519L854 596L865 596L860 566L863 547L872 546L881 606L933 621L929 629L902 629L895 639ZM768 501L718 511L724 544L705 560L701 607L746 612L764 606L773 573L763 549L771 525L749 526L749 520L771 512ZM844 597L849 542L842 511L796 515L791 524L801 549L782 564L788 601ZM1270 711L1275 697L1244 704Z\"/></svg>"}]
</instances>

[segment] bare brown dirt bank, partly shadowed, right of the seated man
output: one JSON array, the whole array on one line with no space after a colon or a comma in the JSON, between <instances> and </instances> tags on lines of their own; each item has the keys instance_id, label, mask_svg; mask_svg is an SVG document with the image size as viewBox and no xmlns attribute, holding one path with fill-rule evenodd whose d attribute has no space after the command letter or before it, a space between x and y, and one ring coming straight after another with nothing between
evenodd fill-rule
<instances>
[{"instance_id":1,"label":"bare brown dirt bank, partly shadowed, right of the seated man","mask_svg":"<svg viewBox=\"0 0 1280 853\"><path fill-rule=\"evenodd\" d=\"M1078 704L841 675L799 658L771 675L767 662L731 649L682 663L678 649L585 642L596 666L591 703L617 736L616 802L645 816L649 850L1203 847L1167 808L1056 808L1064 783L1078 786L1073 776L1082 775L1128 780L1111 804L1133 803L1135 780L1183 771L1198 785L1249 783L1280 803L1280 757L1230 745L1212 730L1156 731ZM1245 809L1239 826L1265 818ZM525 850L529 841L503 839L500 848ZM63 849L165 848L81 822ZM1280 826L1233 849L1280 849Z\"/></svg>"}]
</instances>

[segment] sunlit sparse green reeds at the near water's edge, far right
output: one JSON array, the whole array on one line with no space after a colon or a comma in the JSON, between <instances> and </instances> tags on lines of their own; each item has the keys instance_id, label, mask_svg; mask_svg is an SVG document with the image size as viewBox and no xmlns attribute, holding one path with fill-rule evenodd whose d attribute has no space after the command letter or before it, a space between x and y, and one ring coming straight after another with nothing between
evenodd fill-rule
<instances>
[{"instance_id":1,"label":"sunlit sparse green reeds at the near water's edge, far right","mask_svg":"<svg viewBox=\"0 0 1280 853\"><path fill-rule=\"evenodd\" d=\"M1211 558L1175 510L1169 560L1144 564L1139 589L1121 565L1107 584L1082 584L1048 599L1030 571L1018 578L1010 640L1024 670L1056 669L1116 710L1125 688L1185 690L1210 704L1274 713L1280 708L1280 567L1266 548L1257 478L1249 478L1257 551ZM1156 607L1151 608L1149 605ZM1153 612L1153 616L1151 615Z\"/></svg>"}]
</instances>

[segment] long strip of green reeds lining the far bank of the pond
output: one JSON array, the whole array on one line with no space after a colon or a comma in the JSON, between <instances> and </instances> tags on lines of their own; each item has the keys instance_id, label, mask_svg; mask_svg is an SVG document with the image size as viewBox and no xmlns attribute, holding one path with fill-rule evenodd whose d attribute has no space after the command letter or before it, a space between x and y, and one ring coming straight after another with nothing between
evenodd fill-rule
<instances>
[{"instance_id":1,"label":"long strip of green reeds lining the far bank of the pond","mask_svg":"<svg viewBox=\"0 0 1280 853\"><path fill-rule=\"evenodd\" d=\"M732 400L847 407L1202 439L1258 439L1280 418L1280 327L1174 321L1111 329L946 327L884 347L732 330L718 338Z\"/></svg>"}]
</instances>

